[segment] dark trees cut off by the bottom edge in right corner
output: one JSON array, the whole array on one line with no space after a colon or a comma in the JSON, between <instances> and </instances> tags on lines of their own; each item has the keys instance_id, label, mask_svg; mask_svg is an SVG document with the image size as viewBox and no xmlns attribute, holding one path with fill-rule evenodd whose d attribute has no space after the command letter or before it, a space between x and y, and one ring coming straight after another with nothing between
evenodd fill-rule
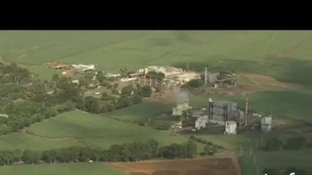
<instances>
[{"instance_id":1,"label":"dark trees cut off by the bottom edge in right corner","mask_svg":"<svg viewBox=\"0 0 312 175\"><path fill-rule=\"evenodd\" d=\"M294 172L296 175L308 175L310 174L308 171L300 168L289 167L286 169L278 169L278 168L265 168L263 170L263 174L267 175L289 175Z\"/></svg>"}]
</instances>

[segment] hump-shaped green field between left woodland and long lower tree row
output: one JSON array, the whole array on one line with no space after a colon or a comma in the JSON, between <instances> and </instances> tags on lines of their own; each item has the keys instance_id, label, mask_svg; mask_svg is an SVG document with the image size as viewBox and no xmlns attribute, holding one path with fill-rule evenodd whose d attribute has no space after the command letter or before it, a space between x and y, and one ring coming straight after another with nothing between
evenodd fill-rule
<instances>
[{"instance_id":1,"label":"hump-shaped green field between left woodland and long lower tree row","mask_svg":"<svg viewBox=\"0 0 312 175\"><path fill-rule=\"evenodd\" d=\"M148 139L155 139L160 145L187 141L182 136L170 135L165 131L80 111L63 113L55 118L47 119L29 127L27 132L44 138L75 138L88 145L102 148L108 148L112 144L147 141Z\"/></svg>"}]
</instances>

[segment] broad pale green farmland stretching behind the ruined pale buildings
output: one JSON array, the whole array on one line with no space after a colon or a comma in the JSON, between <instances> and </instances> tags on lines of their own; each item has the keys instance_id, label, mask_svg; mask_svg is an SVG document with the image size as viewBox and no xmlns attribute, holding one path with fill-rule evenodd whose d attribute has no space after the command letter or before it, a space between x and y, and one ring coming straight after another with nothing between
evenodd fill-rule
<instances>
[{"instance_id":1,"label":"broad pale green farmland stretching behind the ruined pale buildings","mask_svg":"<svg viewBox=\"0 0 312 175\"><path fill-rule=\"evenodd\" d=\"M189 62L190 68L208 64L210 70L311 84L304 76L312 73L311 36L310 31L1 31L0 55L38 74L49 60L96 63L108 72Z\"/></svg>"}]
</instances>

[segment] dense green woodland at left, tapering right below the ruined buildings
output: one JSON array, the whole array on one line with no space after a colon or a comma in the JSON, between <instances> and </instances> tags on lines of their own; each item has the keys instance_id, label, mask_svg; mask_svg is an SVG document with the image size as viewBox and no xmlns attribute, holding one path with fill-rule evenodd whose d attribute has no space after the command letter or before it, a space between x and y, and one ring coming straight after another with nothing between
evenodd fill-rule
<instances>
[{"instance_id":1,"label":"dense green woodland at left, tapering right below the ruined buildings","mask_svg":"<svg viewBox=\"0 0 312 175\"><path fill-rule=\"evenodd\" d=\"M118 96L107 93L101 98L86 96L86 89L94 76L102 86L109 84L116 88L101 71L85 73L79 83L56 74L48 81L34 79L31 72L15 63L0 63L0 135L17 132L35 122L72 110L94 114L110 112L138 104L143 97L151 95L149 87L129 85Z\"/></svg>"}]
</instances>

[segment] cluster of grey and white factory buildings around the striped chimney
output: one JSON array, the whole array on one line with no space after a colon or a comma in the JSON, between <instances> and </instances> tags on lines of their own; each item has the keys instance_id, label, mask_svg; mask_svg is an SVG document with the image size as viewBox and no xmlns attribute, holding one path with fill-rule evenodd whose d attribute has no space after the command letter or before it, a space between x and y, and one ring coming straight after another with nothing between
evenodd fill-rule
<instances>
[{"instance_id":1,"label":"cluster of grey and white factory buildings around the striped chimney","mask_svg":"<svg viewBox=\"0 0 312 175\"><path fill-rule=\"evenodd\" d=\"M247 110L238 108L238 104L232 101L222 101L209 99L206 108L202 110L192 110L188 103L178 104L172 109L172 115L179 116L184 113L191 113L196 118L193 130L200 130L214 124L224 126L224 134L235 135L240 127L247 125ZM271 116L256 117L263 132L271 130Z\"/></svg>"}]
</instances>

